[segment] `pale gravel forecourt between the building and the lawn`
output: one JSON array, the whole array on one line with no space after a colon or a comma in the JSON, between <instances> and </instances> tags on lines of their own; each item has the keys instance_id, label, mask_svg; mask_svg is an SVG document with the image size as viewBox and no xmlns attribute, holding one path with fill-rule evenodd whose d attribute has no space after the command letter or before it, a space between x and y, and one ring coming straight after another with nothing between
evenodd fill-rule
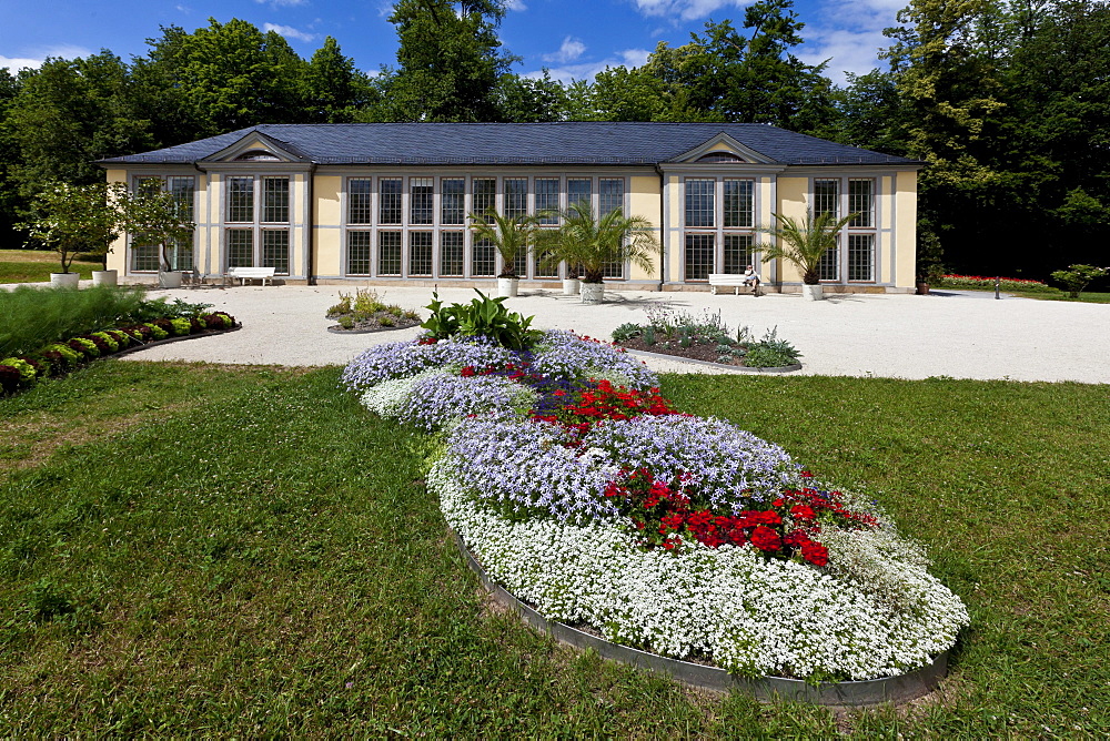
<instances>
[{"instance_id":1,"label":"pale gravel forecourt between the building and the lawn","mask_svg":"<svg viewBox=\"0 0 1110 741\"><path fill-rule=\"evenodd\" d=\"M416 336L418 327L363 335L326 332L324 317L341 291L354 286L246 286L150 292L213 304L230 312L243 329L228 335L152 347L132 361L206 361L232 364L345 364L363 348ZM374 288L386 302L420 309L432 288ZM443 288L446 302L467 302L470 288ZM834 295L807 302L800 294L733 296L709 293L609 292L607 302L587 306L558 291L523 291L506 305L535 315L534 326L574 329L608 339L625 322L644 323L645 307L665 304L700 313L719 311L729 328L747 325L761 336L778 336L803 353L799 373L892 378L1008 378L1110 383L1110 305L938 292ZM706 366L648 361L663 372L713 373Z\"/></svg>"}]
</instances>

